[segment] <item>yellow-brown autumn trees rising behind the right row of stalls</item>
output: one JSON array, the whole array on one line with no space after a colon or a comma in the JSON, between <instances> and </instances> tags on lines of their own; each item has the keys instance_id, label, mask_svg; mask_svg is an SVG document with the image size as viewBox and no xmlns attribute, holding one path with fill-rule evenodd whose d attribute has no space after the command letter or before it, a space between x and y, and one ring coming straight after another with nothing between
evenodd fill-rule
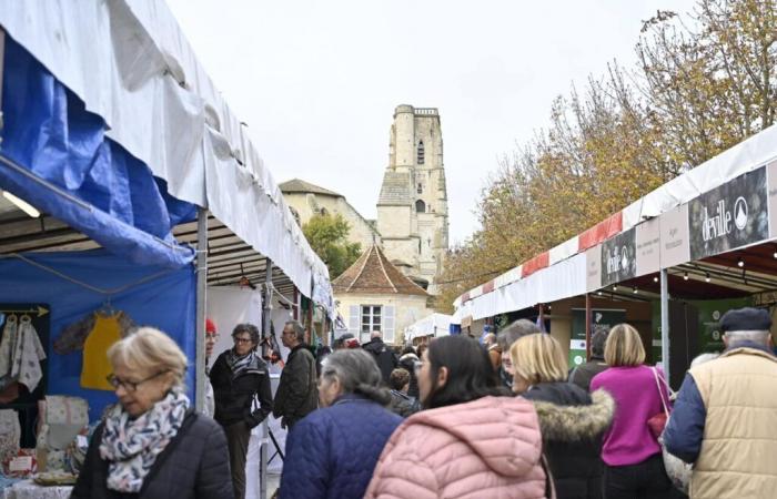
<instances>
[{"instance_id":1,"label":"yellow-brown autumn trees rising behind the right row of stalls","mask_svg":"<svg viewBox=\"0 0 777 499\"><path fill-rule=\"evenodd\" d=\"M551 104L500 162L481 228L447 255L436 307L583 232L775 122L777 1L699 0L635 33L637 64Z\"/></svg>"}]
</instances>

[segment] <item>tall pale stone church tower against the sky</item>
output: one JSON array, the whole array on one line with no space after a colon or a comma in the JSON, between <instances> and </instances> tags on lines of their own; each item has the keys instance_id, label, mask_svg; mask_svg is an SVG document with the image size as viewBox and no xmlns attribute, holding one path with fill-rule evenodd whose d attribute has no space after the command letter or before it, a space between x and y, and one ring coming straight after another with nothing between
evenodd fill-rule
<instances>
[{"instance_id":1,"label":"tall pale stone church tower against the sky","mask_svg":"<svg viewBox=\"0 0 777 499\"><path fill-rule=\"evenodd\" d=\"M394 110L389 166L377 200L377 231L391 262L436 294L448 220L443 135L435 108L398 105Z\"/></svg>"}]
</instances>

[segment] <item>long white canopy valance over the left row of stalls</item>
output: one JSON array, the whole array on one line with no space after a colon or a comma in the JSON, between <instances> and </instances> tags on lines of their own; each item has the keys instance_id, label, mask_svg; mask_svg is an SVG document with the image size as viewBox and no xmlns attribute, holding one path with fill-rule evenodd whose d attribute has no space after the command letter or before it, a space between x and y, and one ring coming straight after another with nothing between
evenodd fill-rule
<instances>
[{"instance_id":1,"label":"long white canopy valance over the left row of stalls","mask_svg":"<svg viewBox=\"0 0 777 499\"><path fill-rule=\"evenodd\" d=\"M210 208L332 314L326 266L164 1L0 0L0 24L170 194Z\"/></svg>"}]
</instances>

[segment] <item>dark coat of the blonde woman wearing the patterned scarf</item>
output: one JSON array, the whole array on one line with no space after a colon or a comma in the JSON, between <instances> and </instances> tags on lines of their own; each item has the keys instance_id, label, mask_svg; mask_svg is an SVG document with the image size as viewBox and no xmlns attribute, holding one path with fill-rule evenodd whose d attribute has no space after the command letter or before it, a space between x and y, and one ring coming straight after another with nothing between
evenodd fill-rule
<instances>
[{"instance_id":1,"label":"dark coat of the blonde woman wearing the patterned scarf","mask_svg":"<svg viewBox=\"0 0 777 499\"><path fill-rule=\"evenodd\" d=\"M186 413L178 435L157 456L140 493L108 489L108 461L100 457L104 422L92 441L72 499L233 499L224 430L213 419Z\"/></svg>"}]
</instances>

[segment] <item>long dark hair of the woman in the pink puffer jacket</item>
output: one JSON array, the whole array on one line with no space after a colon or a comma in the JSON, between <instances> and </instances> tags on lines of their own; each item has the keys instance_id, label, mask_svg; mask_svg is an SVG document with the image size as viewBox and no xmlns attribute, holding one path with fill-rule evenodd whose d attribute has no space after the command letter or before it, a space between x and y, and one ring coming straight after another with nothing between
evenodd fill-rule
<instances>
[{"instance_id":1,"label":"long dark hair of the woman in the pink puffer jacket","mask_svg":"<svg viewBox=\"0 0 777 499\"><path fill-rule=\"evenodd\" d=\"M426 357L433 380L437 379L442 367L447 368L445 385L436 387L433 383L432 391L422 400L427 409L463 404L488 395L509 395L498 386L488 353L473 338L460 335L437 338L430 344Z\"/></svg>"}]
</instances>

